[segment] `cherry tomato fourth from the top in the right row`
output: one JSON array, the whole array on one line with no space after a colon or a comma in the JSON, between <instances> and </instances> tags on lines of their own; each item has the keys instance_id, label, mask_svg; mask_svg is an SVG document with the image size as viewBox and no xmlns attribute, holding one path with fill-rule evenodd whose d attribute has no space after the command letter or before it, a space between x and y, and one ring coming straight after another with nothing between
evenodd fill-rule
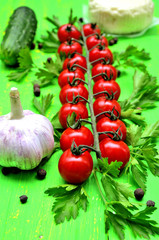
<instances>
[{"instance_id":1,"label":"cherry tomato fourth from the top in the right row","mask_svg":"<svg viewBox=\"0 0 159 240\"><path fill-rule=\"evenodd\" d=\"M117 78L117 70L114 66L108 64L102 64L98 63L92 68L92 77L100 74L100 73L105 73L108 76L108 79L116 80ZM97 76L93 78L93 81L96 82L99 79L101 79L101 76Z\"/></svg>"}]
</instances>

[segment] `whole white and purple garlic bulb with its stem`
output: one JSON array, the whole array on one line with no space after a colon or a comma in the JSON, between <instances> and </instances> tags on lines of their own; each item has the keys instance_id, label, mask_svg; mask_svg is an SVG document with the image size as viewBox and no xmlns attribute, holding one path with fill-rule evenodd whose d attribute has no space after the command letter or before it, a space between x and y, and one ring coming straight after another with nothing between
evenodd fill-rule
<instances>
[{"instance_id":1,"label":"whole white and purple garlic bulb with its stem","mask_svg":"<svg viewBox=\"0 0 159 240\"><path fill-rule=\"evenodd\" d=\"M0 165L33 169L54 147L51 122L40 114L23 110L19 91L11 88L11 112L0 116Z\"/></svg>"}]
</instances>

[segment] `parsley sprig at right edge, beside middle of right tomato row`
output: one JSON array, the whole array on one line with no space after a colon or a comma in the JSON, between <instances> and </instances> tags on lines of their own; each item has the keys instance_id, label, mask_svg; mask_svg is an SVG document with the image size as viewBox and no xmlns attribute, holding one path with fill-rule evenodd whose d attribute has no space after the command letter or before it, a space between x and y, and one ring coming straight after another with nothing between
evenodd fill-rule
<instances>
[{"instance_id":1,"label":"parsley sprig at right edge, beside middle of right tomato row","mask_svg":"<svg viewBox=\"0 0 159 240\"><path fill-rule=\"evenodd\" d=\"M135 71L133 92L128 99L120 102L121 119L128 119L135 124L145 125L144 118L139 114L142 110L155 108L156 101L159 101L159 85L156 77L152 77L148 73Z\"/></svg>"}]
</instances>

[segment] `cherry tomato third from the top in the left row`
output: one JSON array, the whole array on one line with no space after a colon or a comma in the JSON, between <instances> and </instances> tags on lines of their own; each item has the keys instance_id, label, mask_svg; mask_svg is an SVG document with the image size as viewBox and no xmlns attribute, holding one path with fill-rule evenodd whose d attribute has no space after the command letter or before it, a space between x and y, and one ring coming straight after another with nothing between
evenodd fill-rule
<instances>
[{"instance_id":1,"label":"cherry tomato third from the top in the left row","mask_svg":"<svg viewBox=\"0 0 159 240\"><path fill-rule=\"evenodd\" d=\"M76 66L79 65L79 66ZM81 67L80 67L81 66ZM87 63L84 56L79 55L78 53L73 54L73 56L65 59L63 63L63 69L80 69L83 73L86 72Z\"/></svg>"}]
</instances>

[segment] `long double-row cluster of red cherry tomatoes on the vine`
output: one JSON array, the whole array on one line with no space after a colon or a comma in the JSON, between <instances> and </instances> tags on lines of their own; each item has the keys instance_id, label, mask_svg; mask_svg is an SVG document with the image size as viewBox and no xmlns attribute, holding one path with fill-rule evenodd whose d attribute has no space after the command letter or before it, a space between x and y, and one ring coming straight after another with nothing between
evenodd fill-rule
<instances>
[{"instance_id":1,"label":"long double-row cluster of red cherry tomatoes on the vine","mask_svg":"<svg viewBox=\"0 0 159 240\"><path fill-rule=\"evenodd\" d=\"M69 183L78 184L85 181L93 169L93 159L90 150L84 148L94 145L92 132L80 121L88 119L87 102L89 94L93 94L93 110L96 116L96 130L99 134L99 147L102 157L108 157L108 162L121 161L121 168L129 161L130 151L126 143L126 126L119 119L121 108L117 102L120 87L116 82L117 70L112 66L113 54L108 48L108 41L96 24L82 26L86 46L89 51L89 61L92 65L93 91L89 93L85 85L87 71L86 58L82 55L81 32L71 24L62 25L58 30L61 42L58 53L65 54L63 71L58 78L61 87L59 121L65 131L61 135L60 146L63 154L58 168L61 176ZM68 127L67 117L76 114L79 121L76 128ZM79 147L83 146L83 148Z\"/></svg>"}]
</instances>

